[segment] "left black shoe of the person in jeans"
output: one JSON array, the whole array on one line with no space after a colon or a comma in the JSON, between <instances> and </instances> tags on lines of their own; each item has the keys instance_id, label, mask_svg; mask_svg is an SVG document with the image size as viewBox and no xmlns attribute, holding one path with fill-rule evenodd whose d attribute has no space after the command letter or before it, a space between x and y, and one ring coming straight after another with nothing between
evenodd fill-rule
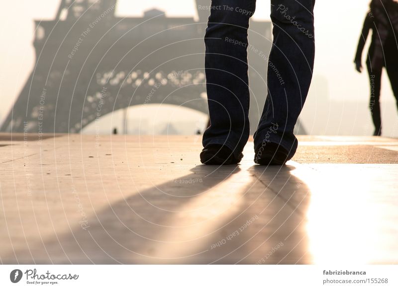
<instances>
[{"instance_id":1,"label":"left black shoe of the person in jeans","mask_svg":"<svg viewBox=\"0 0 398 289\"><path fill-rule=\"evenodd\" d=\"M232 150L222 144L209 144L200 152L200 162L203 164L236 164L242 157L241 153L236 158Z\"/></svg>"}]
</instances>

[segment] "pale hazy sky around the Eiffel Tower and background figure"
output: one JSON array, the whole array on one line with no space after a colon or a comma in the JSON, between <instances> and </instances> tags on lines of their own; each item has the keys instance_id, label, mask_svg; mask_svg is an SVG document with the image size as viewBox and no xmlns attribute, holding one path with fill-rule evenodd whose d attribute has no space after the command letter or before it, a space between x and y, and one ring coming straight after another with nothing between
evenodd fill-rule
<instances>
[{"instance_id":1,"label":"pale hazy sky around the Eiffel Tower and background figure","mask_svg":"<svg viewBox=\"0 0 398 289\"><path fill-rule=\"evenodd\" d=\"M0 18L0 116L8 113L34 65L33 20L52 19L60 0L2 1ZM368 9L368 0L317 0L315 5L316 58L314 81L327 80L328 95L335 100L367 101L366 73L354 70L353 58ZM255 19L269 19L269 0L257 0ZM194 0L119 0L120 16L141 15L158 7L169 16L196 16ZM314 83L315 85L316 83ZM382 99L394 99L384 77ZM391 109L394 109L392 106Z\"/></svg>"}]
</instances>

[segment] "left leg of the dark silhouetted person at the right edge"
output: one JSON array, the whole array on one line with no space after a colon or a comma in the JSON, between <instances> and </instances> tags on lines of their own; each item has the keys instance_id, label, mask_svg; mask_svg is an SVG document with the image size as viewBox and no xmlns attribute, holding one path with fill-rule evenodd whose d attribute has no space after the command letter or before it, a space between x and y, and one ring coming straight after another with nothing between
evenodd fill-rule
<instances>
[{"instance_id":1,"label":"left leg of the dark silhouetted person at the right edge","mask_svg":"<svg viewBox=\"0 0 398 289\"><path fill-rule=\"evenodd\" d=\"M372 115L373 124L375 126L374 136L380 136L382 134L382 117L380 111L380 90L382 87L382 72L372 70L369 62L367 62L367 68L370 81L369 108Z\"/></svg>"}]
</instances>

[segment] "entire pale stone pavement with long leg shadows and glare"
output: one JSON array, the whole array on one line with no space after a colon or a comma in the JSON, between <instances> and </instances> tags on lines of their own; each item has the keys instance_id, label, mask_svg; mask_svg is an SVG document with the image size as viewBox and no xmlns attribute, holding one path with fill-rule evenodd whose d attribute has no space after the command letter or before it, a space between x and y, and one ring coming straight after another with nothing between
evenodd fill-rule
<instances>
[{"instance_id":1,"label":"entire pale stone pavement with long leg shadows and glare","mask_svg":"<svg viewBox=\"0 0 398 289\"><path fill-rule=\"evenodd\" d=\"M251 139L206 166L200 136L0 134L0 261L397 264L397 147L302 136L267 167Z\"/></svg>"}]
</instances>

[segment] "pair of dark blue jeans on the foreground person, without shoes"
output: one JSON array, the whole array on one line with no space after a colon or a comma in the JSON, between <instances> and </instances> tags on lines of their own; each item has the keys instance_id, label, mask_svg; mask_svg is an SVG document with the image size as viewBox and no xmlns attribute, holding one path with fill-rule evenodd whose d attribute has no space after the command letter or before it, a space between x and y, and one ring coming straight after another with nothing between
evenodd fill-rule
<instances>
[{"instance_id":1,"label":"pair of dark blue jeans on the foreground person, without shoes","mask_svg":"<svg viewBox=\"0 0 398 289\"><path fill-rule=\"evenodd\" d=\"M268 94L254 146L280 144L289 151L289 159L298 146L293 131L312 78L314 3L271 0ZM204 36L210 127L202 144L225 144L238 156L250 133L247 31L256 0L212 0L211 6Z\"/></svg>"}]
</instances>

